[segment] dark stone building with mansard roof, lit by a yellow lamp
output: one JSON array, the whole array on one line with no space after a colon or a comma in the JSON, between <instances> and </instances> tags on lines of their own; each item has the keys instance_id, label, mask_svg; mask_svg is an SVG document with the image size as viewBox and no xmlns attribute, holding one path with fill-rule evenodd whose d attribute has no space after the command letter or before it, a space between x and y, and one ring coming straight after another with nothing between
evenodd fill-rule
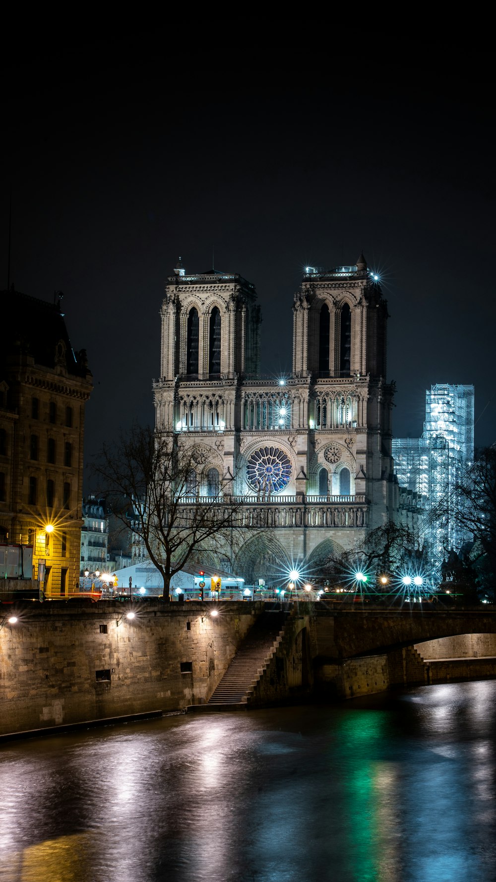
<instances>
[{"instance_id":1,"label":"dark stone building with mansard roof, lit by a yellow lamp","mask_svg":"<svg viewBox=\"0 0 496 882\"><path fill-rule=\"evenodd\" d=\"M48 303L12 288L0 298L0 541L32 545L33 578L48 595L68 594L79 577L92 374L85 350L70 346L60 295Z\"/></svg>"}]
</instances>

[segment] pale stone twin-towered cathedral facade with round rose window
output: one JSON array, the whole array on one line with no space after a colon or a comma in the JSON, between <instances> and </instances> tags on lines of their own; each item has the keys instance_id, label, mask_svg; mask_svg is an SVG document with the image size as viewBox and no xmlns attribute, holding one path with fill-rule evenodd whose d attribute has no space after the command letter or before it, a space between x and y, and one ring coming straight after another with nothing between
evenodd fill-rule
<instances>
[{"instance_id":1,"label":"pale stone twin-towered cathedral facade with round rose window","mask_svg":"<svg viewBox=\"0 0 496 882\"><path fill-rule=\"evenodd\" d=\"M241 539L211 564L250 584L294 566L311 577L397 519L379 280L363 255L307 267L292 310L292 372L265 378L260 307L241 275L189 275L180 262L161 309L156 428L195 446L196 498L239 506Z\"/></svg>"}]
</instances>

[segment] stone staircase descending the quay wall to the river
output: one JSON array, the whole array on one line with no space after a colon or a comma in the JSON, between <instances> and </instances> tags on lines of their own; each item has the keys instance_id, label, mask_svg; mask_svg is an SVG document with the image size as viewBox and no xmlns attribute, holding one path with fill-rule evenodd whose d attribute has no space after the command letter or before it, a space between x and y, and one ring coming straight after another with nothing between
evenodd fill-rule
<instances>
[{"instance_id":1,"label":"stone staircase descending the quay wall to the river","mask_svg":"<svg viewBox=\"0 0 496 882\"><path fill-rule=\"evenodd\" d=\"M203 705L205 710L233 710L236 706L240 709L247 706L250 692L255 689L283 638L289 616L289 612L280 612L279 609L266 609L262 613L210 699Z\"/></svg>"}]
</instances>

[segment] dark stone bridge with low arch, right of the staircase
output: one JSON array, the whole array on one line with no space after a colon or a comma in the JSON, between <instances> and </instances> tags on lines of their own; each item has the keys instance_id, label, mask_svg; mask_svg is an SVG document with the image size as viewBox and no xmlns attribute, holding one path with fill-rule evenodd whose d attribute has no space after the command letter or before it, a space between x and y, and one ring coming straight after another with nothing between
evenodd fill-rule
<instances>
[{"instance_id":1,"label":"dark stone bridge with low arch, right of the staircase","mask_svg":"<svg viewBox=\"0 0 496 882\"><path fill-rule=\"evenodd\" d=\"M315 691L352 698L391 686L496 678L493 609L315 609Z\"/></svg>"}]
</instances>

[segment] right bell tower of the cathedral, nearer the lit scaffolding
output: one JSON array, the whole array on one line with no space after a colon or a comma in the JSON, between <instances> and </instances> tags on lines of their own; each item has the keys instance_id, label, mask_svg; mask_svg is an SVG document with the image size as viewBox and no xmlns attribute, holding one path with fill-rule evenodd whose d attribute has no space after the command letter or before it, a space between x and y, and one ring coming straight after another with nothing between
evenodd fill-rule
<instances>
[{"instance_id":1,"label":"right bell tower of the cathedral, nearer the lit scaffolding","mask_svg":"<svg viewBox=\"0 0 496 882\"><path fill-rule=\"evenodd\" d=\"M387 303L363 254L307 267L294 295L292 370L308 384L307 493L365 501L369 527L394 517Z\"/></svg>"}]
</instances>

